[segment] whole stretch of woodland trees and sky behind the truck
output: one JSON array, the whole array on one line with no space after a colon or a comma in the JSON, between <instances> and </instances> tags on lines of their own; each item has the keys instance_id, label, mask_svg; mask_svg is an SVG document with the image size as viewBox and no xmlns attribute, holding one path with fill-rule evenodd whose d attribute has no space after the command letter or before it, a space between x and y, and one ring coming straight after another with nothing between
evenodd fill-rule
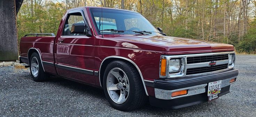
<instances>
[{"instance_id":1,"label":"whole stretch of woodland trees and sky behind the truck","mask_svg":"<svg viewBox=\"0 0 256 117\"><path fill-rule=\"evenodd\" d=\"M65 10L98 6L139 12L168 36L232 44L256 54L256 0L24 0L17 14L25 34L56 34Z\"/></svg>"}]
</instances>

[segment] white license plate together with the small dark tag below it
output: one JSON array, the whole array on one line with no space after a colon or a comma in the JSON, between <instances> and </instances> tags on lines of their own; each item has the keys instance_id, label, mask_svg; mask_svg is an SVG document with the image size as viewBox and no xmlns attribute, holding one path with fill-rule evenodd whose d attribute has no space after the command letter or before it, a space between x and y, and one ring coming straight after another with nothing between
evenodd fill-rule
<instances>
[{"instance_id":1,"label":"white license plate together with the small dark tag below it","mask_svg":"<svg viewBox=\"0 0 256 117\"><path fill-rule=\"evenodd\" d=\"M208 83L208 101L218 99L218 93L221 92L221 80Z\"/></svg>"}]
</instances>

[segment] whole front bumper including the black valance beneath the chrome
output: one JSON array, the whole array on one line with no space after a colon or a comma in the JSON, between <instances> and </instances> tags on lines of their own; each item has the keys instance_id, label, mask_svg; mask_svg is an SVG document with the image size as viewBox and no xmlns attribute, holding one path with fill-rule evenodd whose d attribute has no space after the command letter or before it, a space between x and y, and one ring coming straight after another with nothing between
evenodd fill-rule
<instances>
[{"instance_id":1,"label":"whole front bumper including the black valance beneath the chrome","mask_svg":"<svg viewBox=\"0 0 256 117\"><path fill-rule=\"evenodd\" d=\"M229 93L229 81L238 76L237 69L210 75L186 77L174 80L145 81L147 86L154 87L155 97L149 97L150 104L162 108L183 108L208 101L207 85L209 82L222 80L219 96ZM188 90L188 94L171 97L172 92Z\"/></svg>"}]
</instances>

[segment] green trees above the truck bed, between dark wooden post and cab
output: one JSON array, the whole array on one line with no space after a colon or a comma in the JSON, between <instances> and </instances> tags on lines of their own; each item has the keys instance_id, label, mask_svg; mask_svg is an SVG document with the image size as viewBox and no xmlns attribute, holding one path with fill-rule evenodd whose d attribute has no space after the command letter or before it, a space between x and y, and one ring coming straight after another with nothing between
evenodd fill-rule
<instances>
[{"instance_id":1,"label":"green trees above the truck bed, between dark wooden post and cab","mask_svg":"<svg viewBox=\"0 0 256 117\"><path fill-rule=\"evenodd\" d=\"M61 18L66 9L60 3L52 1L44 5L31 5L23 3L17 15L18 42L25 34L31 33L57 33Z\"/></svg>"}]
</instances>

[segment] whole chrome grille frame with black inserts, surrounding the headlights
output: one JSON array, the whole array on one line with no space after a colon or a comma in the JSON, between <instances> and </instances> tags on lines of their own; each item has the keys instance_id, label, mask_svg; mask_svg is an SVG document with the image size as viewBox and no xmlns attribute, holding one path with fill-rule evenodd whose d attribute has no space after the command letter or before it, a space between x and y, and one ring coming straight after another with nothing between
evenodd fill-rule
<instances>
[{"instance_id":1,"label":"whole chrome grille frame with black inserts, surrounding the headlights","mask_svg":"<svg viewBox=\"0 0 256 117\"><path fill-rule=\"evenodd\" d=\"M162 55L161 59L167 59L166 73L169 72L169 62L171 59L180 59L181 67L179 73L169 73L165 76L160 75L160 78L178 78L186 76L206 75L232 69L234 65L228 65L229 54L234 54L234 52L199 53L189 55ZM210 63L212 63L211 61L215 61L213 62L215 63L215 65L209 65Z\"/></svg>"}]
</instances>

